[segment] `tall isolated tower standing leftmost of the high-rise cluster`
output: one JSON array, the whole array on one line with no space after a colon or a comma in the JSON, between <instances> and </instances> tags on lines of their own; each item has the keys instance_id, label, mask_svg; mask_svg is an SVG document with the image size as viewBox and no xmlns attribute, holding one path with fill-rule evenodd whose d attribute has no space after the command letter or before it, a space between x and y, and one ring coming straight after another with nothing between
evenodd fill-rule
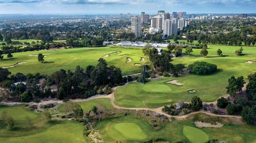
<instances>
[{"instance_id":1,"label":"tall isolated tower standing leftmost of the high-rise cluster","mask_svg":"<svg viewBox=\"0 0 256 143\"><path fill-rule=\"evenodd\" d=\"M134 16L131 19L132 22L132 33L135 34L135 37L141 37L142 30L141 30L141 17L139 16Z\"/></svg>"}]
</instances>

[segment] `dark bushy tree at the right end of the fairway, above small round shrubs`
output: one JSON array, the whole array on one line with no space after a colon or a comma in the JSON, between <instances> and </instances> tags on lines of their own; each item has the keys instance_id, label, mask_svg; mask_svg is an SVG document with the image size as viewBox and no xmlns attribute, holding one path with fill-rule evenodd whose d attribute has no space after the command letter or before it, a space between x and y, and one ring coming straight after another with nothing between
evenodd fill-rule
<instances>
[{"instance_id":1,"label":"dark bushy tree at the right end of the fairway, above small round shrubs","mask_svg":"<svg viewBox=\"0 0 256 143\"><path fill-rule=\"evenodd\" d=\"M228 80L229 84L227 85L227 93L231 96L235 96L236 92L242 91L242 87L244 86L244 78L242 76L235 78L234 76L231 76Z\"/></svg>"}]
</instances>

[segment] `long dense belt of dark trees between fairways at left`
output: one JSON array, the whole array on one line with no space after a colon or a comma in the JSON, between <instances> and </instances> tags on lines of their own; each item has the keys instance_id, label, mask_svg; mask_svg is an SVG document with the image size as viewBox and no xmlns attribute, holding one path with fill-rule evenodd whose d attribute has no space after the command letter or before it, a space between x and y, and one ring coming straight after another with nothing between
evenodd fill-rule
<instances>
[{"instance_id":1,"label":"long dense belt of dark trees between fairways at left","mask_svg":"<svg viewBox=\"0 0 256 143\"><path fill-rule=\"evenodd\" d=\"M80 66L74 72L63 69L46 76L40 74L17 73L10 76L8 69L0 68L1 86L9 89L12 99L17 101L39 101L44 97L57 99L87 98L96 94L109 94L111 87L124 84L122 71L113 65L108 66L104 59L99 59L96 66L89 65L84 70ZM8 77L10 76L10 77ZM40 80L45 80L38 85ZM14 85L15 82L19 82ZM23 83L25 82L25 84ZM50 86L57 86L51 91Z\"/></svg>"}]
</instances>

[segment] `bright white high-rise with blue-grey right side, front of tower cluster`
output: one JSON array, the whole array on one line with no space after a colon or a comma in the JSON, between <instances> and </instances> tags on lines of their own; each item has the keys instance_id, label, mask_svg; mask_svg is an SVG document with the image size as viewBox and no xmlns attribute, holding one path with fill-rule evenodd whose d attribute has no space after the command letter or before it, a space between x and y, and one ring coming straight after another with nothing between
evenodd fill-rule
<instances>
[{"instance_id":1,"label":"bright white high-rise with blue-grey right side, front of tower cluster","mask_svg":"<svg viewBox=\"0 0 256 143\"><path fill-rule=\"evenodd\" d=\"M166 19L165 27L162 33L163 37L169 37L170 35L177 35L177 20L176 18Z\"/></svg>"}]
</instances>

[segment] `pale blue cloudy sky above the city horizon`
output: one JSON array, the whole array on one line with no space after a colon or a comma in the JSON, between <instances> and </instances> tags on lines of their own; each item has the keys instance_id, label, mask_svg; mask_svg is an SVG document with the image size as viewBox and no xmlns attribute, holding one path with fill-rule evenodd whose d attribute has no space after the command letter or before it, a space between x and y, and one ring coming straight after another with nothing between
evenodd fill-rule
<instances>
[{"instance_id":1,"label":"pale blue cloudy sky above the city horizon","mask_svg":"<svg viewBox=\"0 0 256 143\"><path fill-rule=\"evenodd\" d=\"M0 0L0 14L256 13L256 0Z\"/></svg>"}]
</instances>

